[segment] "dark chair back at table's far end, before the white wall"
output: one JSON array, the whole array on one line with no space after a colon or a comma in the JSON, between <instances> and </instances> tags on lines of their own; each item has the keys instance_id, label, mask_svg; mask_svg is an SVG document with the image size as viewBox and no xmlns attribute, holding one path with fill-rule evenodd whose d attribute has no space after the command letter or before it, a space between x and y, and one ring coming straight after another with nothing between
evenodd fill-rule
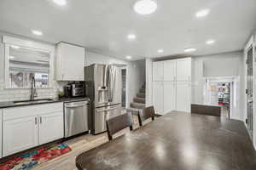
<instances>
[{"instance_id":1,"label":"dark chair back at table's far end, before the white wall","mask_svg":"<svg viewBox=\"0 0 256 170\"><path fill-rule=\"evenodd\" d=\"M220 116L221 108L213 105L191 104L191 113L208 116Z\"/></svg>"}]
</instances>

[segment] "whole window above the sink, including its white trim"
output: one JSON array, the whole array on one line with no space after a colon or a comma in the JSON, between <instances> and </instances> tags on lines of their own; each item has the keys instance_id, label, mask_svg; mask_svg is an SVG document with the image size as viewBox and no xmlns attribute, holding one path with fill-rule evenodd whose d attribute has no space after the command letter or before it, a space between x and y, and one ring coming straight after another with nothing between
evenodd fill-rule
<instances>
[{"instance_id":1,"label":"whole window above the sink, including its white trim","mask_svg":"<svg viewBox=\"0 0 256 170\"><path fill-rule=\"evenodd\" d=\"M55 47L38 42L3 37L5 43L5 88L51 88Z\"/></svg>"}]
</instances>

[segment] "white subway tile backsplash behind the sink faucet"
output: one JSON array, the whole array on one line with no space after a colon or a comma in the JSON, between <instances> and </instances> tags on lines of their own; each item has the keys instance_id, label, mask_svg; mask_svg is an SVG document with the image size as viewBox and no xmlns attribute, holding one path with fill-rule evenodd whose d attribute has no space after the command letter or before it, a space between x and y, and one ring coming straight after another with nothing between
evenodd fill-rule
<instances>
[{"instance_id":1,"label":"white subway tile backsplash behind the sink faucet","mask_svg":"<svg viewBox=\"0 0 256 170\"><path fill-rule=\"evenodd\" d=\"M53 82L52 88L37 88L38 97L35 99L55 98L58 89L61 89L67 82ZM4 82L0 82L0 102L14 101L30 98L30 89L5 88Z\"/></svg>"}]
</instances>

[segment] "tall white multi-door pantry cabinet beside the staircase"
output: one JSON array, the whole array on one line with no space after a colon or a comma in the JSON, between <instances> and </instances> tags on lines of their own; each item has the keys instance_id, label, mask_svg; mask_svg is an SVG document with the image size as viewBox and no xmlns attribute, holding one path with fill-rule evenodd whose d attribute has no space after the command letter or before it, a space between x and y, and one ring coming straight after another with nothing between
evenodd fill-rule
<instances>
[{"instance_id":1,"label":"tall white multi-door pantry cabinet beside the staircase","mask_svg":"<svg viewBox=\"0 0 256 170\"><path fill-rule=\"evenodd\" d=\"M190 111L191 58L153 63L153 105L157 114Z\"/></svg>"}]
</instances>

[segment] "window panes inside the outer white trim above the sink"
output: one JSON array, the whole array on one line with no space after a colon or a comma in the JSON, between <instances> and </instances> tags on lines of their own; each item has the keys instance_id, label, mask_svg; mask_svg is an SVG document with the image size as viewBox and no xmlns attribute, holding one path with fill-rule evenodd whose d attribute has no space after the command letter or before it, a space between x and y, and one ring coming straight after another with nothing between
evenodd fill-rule
<instances>
[{"instance_id":1,"label":"window panes inside the outer white trim above the sink","mask_svg":"<svg viewBox=\"0 0 256 170\"><path fill-rule=\"evenodd\" d=\"M9 44L5 49L8 88L30 88L32 77L37 88L49 87L49 52Z\"/></svg>"}]
</instances>

